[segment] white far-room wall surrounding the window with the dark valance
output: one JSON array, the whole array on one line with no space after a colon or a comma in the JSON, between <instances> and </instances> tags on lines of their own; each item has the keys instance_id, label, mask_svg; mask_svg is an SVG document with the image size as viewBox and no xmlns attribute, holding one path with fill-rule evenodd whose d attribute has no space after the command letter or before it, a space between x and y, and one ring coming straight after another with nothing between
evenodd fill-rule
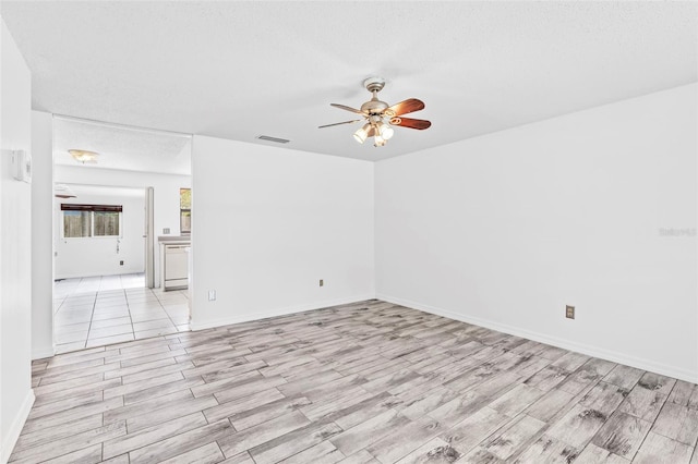
<instances>
[{"instance_id":1,"label":"white far-room wall surrounding the window with the dark valance","mask_svg":"<svg viewBox=\"0 0 698 464\"><path fill-rule=\"evenodd\" d=\"M63 237L61 204L121 205L121 236ZM56 279L145 271L144 190L130 196L80 194L77 198L56 198Z\"/></svg>"}]
</instances>

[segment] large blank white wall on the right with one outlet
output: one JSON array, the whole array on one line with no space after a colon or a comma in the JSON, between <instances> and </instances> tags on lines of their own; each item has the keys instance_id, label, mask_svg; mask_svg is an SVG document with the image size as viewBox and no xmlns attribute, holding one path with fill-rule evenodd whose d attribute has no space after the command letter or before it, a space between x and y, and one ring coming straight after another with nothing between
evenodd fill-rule
<instances>
[{"instance_id":1,"label":"large blank white wall on the right with one outlet","mask_svg":"<svg viewBox=\"0 0 698 464\"><path fill-rule=\"evenodd\" d=\"M377 296L698 381L696 97L377 162Z\"/></svg>"}]
</instances>

